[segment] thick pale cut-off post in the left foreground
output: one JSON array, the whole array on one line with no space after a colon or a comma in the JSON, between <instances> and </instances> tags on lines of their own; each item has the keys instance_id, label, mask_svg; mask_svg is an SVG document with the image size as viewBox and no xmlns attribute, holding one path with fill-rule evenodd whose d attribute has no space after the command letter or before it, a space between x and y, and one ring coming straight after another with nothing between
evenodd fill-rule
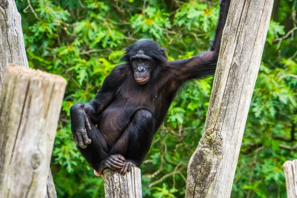
<instances>
[{"instance_id":1,"label":"thick pale cut-off post in the left foreground","mask_svg":"<svg viewBox=\"0 0 297 198\"><path fill-rule=\"evenodd\" d=\"M0 96L0 198L43 198L66 81L8 66Z\"/></svg>"}]
</instances>

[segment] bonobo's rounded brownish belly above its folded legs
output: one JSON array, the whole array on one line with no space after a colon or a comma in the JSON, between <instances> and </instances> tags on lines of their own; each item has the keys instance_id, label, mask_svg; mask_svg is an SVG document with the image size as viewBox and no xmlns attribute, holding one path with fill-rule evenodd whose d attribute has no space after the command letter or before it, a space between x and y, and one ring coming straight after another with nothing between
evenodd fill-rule
<instances>
[{"instance_id":1,"label":"bonobo's rounded brownish belly above its folded legs","mask_svg":"<svg viewBox=\"0 0 297 198\"><path fill-rule=\"evenodd\" d=\"M135 107L110 104L100 115L98 128L107 144L113 144L129 125Z\"/></svg>"}]
</instances>

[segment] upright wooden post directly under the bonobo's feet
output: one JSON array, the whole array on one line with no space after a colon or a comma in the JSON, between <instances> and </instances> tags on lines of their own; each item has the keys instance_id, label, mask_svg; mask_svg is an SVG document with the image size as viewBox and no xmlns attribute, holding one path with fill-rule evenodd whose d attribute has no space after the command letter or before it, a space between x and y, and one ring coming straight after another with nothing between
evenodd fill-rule
<instances>
[{"instance_id":1,"label":"upright wooden post directly under the bonobo's feet","mask_svg":"<svg viewBox=\"0 0 297 198\"><path fill-rule=\"evenodd\" d=\"M137 167L125 175L117 171L105 169L105 198L142 198L141 171Z\"/></svg>"}]
</instances>

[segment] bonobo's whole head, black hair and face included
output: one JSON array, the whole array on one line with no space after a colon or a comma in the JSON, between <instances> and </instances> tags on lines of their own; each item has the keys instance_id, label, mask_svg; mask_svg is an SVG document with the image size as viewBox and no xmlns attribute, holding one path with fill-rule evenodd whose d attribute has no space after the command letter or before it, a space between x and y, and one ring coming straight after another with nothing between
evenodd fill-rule
<instances>
[{"instance_id":1,"label":"bonobo's whole head, black hair and face included","mask_svg":"<svg viewBox=\"0 0 297 198\"><path fill-rule=\"evenodd\" d=\"M130 63L136 82L144 85L148 82L151 72L160 63L167 62L164 50L152 40L141 39L126 48L121 61Z\"/></svg>"}]
</instances>

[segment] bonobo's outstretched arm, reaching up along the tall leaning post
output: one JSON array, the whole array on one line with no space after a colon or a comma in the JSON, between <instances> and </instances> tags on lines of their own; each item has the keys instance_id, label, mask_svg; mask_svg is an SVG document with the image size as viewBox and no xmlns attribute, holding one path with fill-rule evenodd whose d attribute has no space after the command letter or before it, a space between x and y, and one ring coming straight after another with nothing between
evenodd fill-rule
<instances>
[{"instance_id":1,"label":"bonobo's outstretched arm, reaching up along the tall leaning post","mask_svg":"<svg viewBox=\"0 0 297 198\"><path fill-rule=\"evenodd\" d=\"M214 74L230 1L231 0L221 0L220 2L218 25L210 51L206 51L189 59L169 62L170 67L174 70L175 76L179 81L190 80L193 78L198 79Z\"/></svg>"}]
</instances>

